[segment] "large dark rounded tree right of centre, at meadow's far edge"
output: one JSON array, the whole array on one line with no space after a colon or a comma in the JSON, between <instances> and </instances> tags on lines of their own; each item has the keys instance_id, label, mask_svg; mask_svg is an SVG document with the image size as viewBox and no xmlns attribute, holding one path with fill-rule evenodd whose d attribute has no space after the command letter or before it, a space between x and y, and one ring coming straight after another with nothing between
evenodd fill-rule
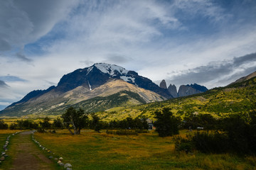
<instances>
[{"instance_id":1,"label":"large dark rounded tree right of centre, at meadow's far edge","mask_svg":"<svg viewBox=\"0 0 256 170\"><path fill-rule=\"evenodd\" d=\"M173 136L178 134L178 125L180 125L180 118L176 118L170 111L170 108L163 108L162 111L156 111L156 132L160 137Z\"/></svg>"}]
</instances>

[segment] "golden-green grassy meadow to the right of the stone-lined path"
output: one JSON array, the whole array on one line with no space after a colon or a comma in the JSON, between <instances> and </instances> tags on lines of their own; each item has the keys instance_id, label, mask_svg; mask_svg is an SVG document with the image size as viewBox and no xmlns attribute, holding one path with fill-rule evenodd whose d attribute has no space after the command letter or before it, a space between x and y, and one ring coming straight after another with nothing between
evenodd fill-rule
<instances>
[{"instance_id":1,"label":"golden-green grassy meadow to the right of the stone-lined path","mask_svg":"<svg viewBox=\"0 0 256 170\"><path fill-rule=\"evenodd\" d=\"M180 131L185 137L188 132ZM79 169L256 169L256 157L232 154L176 152L173 137L158 137L156 132L139 135L110 135L84 130L70 135L35 133L41 145Z\"/></svg>"}]
</instances>

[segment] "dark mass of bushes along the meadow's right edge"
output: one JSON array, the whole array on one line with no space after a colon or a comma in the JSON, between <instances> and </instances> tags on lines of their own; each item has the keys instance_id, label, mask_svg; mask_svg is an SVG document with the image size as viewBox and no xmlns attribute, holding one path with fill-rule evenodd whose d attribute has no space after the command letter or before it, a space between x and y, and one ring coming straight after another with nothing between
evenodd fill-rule
<instances>
[{"instance_id":1,"label":"dark mass of bushes along the meadow's right edge","mask_svg":"<svg viewBox=\"0 0 256 170\"><path fill-rule=\"evenodd\" d=\"M193 137L176 137L176 149L191 146L204 153L256 153L256 113L233 114L221 120L222 132L197 132ZM188 147L188 148L187 148Z\"/></svg>"}]
</instances>

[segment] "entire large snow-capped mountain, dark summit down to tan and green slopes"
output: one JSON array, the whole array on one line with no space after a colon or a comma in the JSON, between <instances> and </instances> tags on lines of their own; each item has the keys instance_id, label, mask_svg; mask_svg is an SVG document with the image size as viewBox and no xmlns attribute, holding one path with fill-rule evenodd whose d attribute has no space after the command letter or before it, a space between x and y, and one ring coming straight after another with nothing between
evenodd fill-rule
<instances>
[{"instance_id":1,"label":"entire large snow-capped mountain, dark summit down to tan and green slopes","mask_svg":"<svg viewBox=\"0 0 256 170\"><path fill-rule=\"evenodd\" d=\"M59 115L69 106L85 111L105 111L117 106L133 106L172 98L150 79L117 65L98 63L65 74L58 86L31 91L0 115ZM92 104L94 103L94 104Z\"/></svg>"}]
</instances>

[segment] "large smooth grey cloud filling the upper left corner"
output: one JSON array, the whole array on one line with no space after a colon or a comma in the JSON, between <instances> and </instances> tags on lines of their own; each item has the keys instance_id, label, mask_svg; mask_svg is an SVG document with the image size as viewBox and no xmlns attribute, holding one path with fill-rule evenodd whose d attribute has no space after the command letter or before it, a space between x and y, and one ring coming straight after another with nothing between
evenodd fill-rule
<instances>
[{"instance_id":1,"label":"large smooth grey cloud filling the upper left corner","mask_svg":"<svg viewBox=\"0 0 256 170\"><path fill-rule=\"evenodd\" d=\"M77 1L1 1L0 42L6 45L2 50L23 49L27 43L46 35L67 16L73 4Z\"/></svg>"}]
</instances>

